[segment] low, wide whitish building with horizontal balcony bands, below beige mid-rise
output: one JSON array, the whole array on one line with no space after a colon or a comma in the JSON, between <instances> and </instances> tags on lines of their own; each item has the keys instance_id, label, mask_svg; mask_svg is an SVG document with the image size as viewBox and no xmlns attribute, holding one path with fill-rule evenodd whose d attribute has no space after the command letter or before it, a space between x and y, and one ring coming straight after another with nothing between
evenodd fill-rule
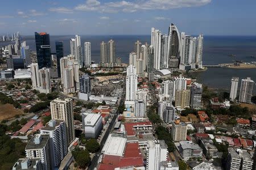
<instances>
[{"instance_id":1,"label":"low, wide whitish building with horizontal balcony bands, below beige mid-rise","mask_svg":"<svg viewBox=\"0 0 256 170\"><path fill-rule=\"evenodd\" d=\"M180 141L179 152L184 160L189 158L202 158L203 151L199 145L190 141Z\"/></svg>"}]
</instances>

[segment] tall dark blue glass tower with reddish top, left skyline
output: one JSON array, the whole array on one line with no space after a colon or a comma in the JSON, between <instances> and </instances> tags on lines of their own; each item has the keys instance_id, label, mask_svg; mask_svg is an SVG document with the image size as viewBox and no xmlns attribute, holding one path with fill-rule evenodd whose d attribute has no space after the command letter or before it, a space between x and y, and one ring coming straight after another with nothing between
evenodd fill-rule
<instances>
[{"instance_id":1,"label":"tall dark blue glass tower with reddish top, left skyline","mask_svg":"<svg viewBox=\"0 0 256 170\"><path fill-rule=\"evenodd\" d=\"M36 56L38 58L38 67L51 67L51 46L49 34L46 32L35 32Z\"/></svg>"}]
</instances>

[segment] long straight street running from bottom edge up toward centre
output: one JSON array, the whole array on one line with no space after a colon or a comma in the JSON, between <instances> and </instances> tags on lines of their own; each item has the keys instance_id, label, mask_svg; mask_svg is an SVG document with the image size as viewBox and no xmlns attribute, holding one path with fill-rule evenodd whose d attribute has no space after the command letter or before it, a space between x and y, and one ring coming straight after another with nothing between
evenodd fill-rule
<instances>
[{"instance_id":1,"label":"long straight street running from bottom edge up toward centre","mask_svg":"<svg viewBox=\"0 0 256 170\"><path fill-rule=\"evenodd\" d=\"M122 99L121 102L124 102L124 100ZM115 120L117 120L118 114L119 114L119 112L118 112L118 109L117 109L117 111L115 111L114 117L112 118L112 121L109 124L108 129L106 130L106 133L105 133L104 137L101 140L100 151L98 151L94 155L94 157L92 159L92 162L90 163L90 165L88 167L89 170L93 170L94 168L97 167L97 165L98 165L98 158L100 158L100 155L101 155L101 150L102 150L102 148L103 148L103 146L104 146L104 144L106 142L106 139L108 139L110 131L113 129L113 126L114 126Z\"/></svg>"}]
</instances>

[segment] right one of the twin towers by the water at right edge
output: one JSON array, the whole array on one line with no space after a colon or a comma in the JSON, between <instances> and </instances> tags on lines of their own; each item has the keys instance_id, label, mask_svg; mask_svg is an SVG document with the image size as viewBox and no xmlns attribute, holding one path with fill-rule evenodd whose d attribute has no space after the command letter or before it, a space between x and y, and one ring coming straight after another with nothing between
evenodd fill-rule
<instances>
[{"instance_id":1,"label":"right one of the twin towers by the water at right edge","mask_svg":"<svg viewBox=\"0 0 256 170\"><path fill-rule=\"evenodd\" d=\"M242 79L239 102L242 103L251 103L251 97L253 96L253 84L254 81L251 78L247 77L246 79Z\"/></svg>"}]
</instances>

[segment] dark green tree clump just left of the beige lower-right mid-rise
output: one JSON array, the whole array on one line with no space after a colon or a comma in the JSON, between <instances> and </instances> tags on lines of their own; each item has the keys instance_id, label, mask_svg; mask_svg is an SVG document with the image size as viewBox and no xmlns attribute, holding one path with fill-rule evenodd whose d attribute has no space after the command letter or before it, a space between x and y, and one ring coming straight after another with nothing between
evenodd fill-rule
<instances>
[{"instance_id":1,"label":"dark green tree clump just left of the beige lower-right mid-rise","mask_svg":"<svg viewBox=\"0 0 256 170\"><path fill-rule=\"evenodd\" d=\"M156 134L158 135L159 140L164 140L168 146L169 152L174 152L176 150L174 142L172 142L171 134L164 128L164 126L158 126L156 129Z\"/></svg>"}]
</instances>

